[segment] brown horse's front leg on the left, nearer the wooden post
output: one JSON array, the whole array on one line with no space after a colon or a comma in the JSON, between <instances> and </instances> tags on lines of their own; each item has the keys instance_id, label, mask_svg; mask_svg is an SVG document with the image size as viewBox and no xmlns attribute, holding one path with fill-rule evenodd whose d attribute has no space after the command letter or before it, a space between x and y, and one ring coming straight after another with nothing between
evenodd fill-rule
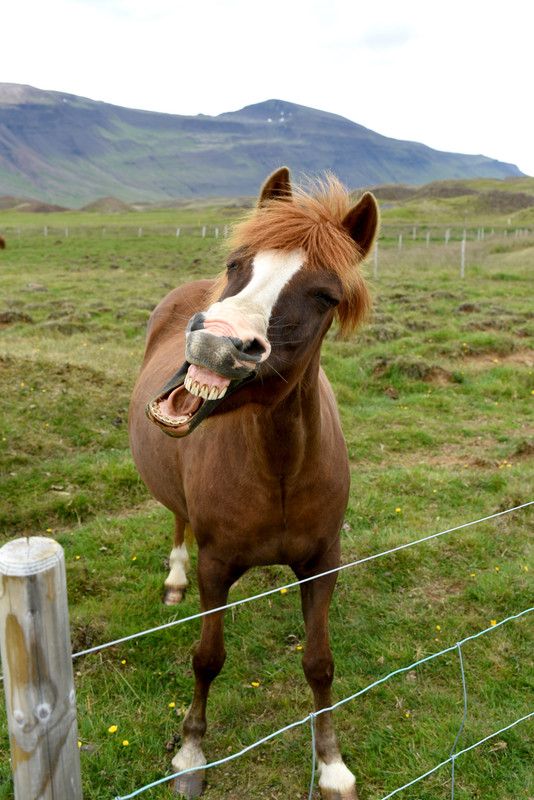
<instances>
[{"instance_id":1,"label":"brown horse's front leg on the left, nearer the wooden post","mask_svg":"<svg viewBox=\"0 0 534 800\"><path fill-rule=\"evenodd\" d=\"M232 584L227 568L221 562L199 551L198 586L203 611L220 608L226 604L228 590ZM183 743L172 760L175 772L199 767L195 772L175 779L174 791L186 797L197 797L204 789L202 769L206 758L202 751L202 740L206 733L206 703L212 681L221 671L226 651L223 639L223 611L207 614L202 618L200 642L193 656L195 691L193 702L187 711L183 724Z\"/></svg>"}]
</instances>

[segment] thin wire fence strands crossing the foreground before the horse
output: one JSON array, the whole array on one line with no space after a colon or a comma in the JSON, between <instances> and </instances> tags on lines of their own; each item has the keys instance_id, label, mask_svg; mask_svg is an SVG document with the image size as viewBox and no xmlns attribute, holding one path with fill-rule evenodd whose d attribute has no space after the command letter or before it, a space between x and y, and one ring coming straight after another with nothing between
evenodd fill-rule
<instances>
[{"instance_id":1,"label":"thin wire fence strands crossing the foreground before the horse","mask_svg":"<svg viewBox=\"0 0 534 800\"><path fill-rule=\"evenodd\" d=\"M513 508L506 509L504 511L500 511L500 512L497 512L495 514L490 514L490 515L488 515L486 517L482 517L480 519L477 519L477 520L474 520L474 521L471 521L471 522L463 523L462 525L457 525L457 526L452 527L452 528L447 528L446 530L439 531L437 533L433 533L433 534L430 534L428 536L424 536L422 538L415 539L415 540L410 541L410 542L406 542L404 544L400 544L400 545L398 545L396 547L392 547L392 548L390 548L388 550L384 550L384 551L381 551L379 553L375 553L375 554L370 555L370 556L366 556L364 558L358 559L357 561L351 561L348 564L342 564L339 567L337 567L336 569L328 570L327 572L320 573L319 575L314 575L312 577L305 578L305 579L300 580L300 581L293 581L293 582L287 583L287 584L285 584L283 586L278 586L278 587L276 587L274 589L269 589L269 590L267 590L265 592L261 592L261 593L256 594L256 595L252 595L250 597L242 598L241 600L236 600L234 602L228 603L225 606L220 606L220 607L217 607L217 608L209 609L207 611L199 612L197 614L193 614L193 615L190 615L188 617L184 617L182 619L173 620L171 622L164 623L163 625L159 625L159 626L154 627L154 628L149 628L147 630L139 631L139 632L137 632L135 634L131 634L129 636L122 637L120 639L115 639L113 641L106 642L106 643L97 645L95 647L88 648L86 650L81 650L81 651L79 651L77 653L74 653L72 657L74 659L74 658L79 658L81 656L89 655L91 653L96 653L96 652L101 651L101 650L103 650L105 648L109 648L109 647L113 647L113 646L116 646L116 645L119 645L119 644L123 644L124 642L131 641L133 639L139 639L142 636L147 636L147 635L155 633L157 631L161 631L161 630L164 630L164 629L167 629L167 628L175 627L176 625L181 625L181 624L184 624L186 622L190 622L192 620L199 619L199 618L204 617L204 616L206 616L208 614L213 614L213 613L216 613L216 612L225 611L227 609L232 609L232 608L235 608L237 606L243 605L245 603L250 603L252 601L259 600L259 599L264 598L264 597L268 597L269 595L272 595L272 594L278 594L281 591L286 591L288 589L295 588L295 587L297 587L297 586L299 586L299 585L301 585L303 583L307 583L307 582L309 582L311 580L316 580L317 578L323 577L325 575L329 575L329 574L332 574L334 572L341 572L343 570L356 567L359 564L363 564L363 563L366 563L368 561L372 561L372 560L380 558L382 556L391 555L391 554L399 552L401 550L405 550L405 549L407 549L409 547L414 547L416 545L422 544L423 542L428 542L428 541L431 541L433 539L437 539L437 538L439 538L441 536L444 536L446 534L453 533L453 532L459 531L459 530L464 530L466 528L473 527L474 525L478 525L478 524L480 524L482 522L487 522L489 520L493 520L493 519L496 519L498 517L503 517L506 514L511 514L513 512L521 511L521 510L523 510L525 508L528 508L529 506L532 506L532 505L534 505L534 501L523 503L523 504L515 506ZM449 654L449 653L452 653L452 652L456 651L457 654L458 654L458 658L459 658L460 674L461 674L461 679L462 679L462 690L463 690L463 701L464 701L463 702L463 706L464 706L464 708L463 708L462 721L461 721L461 724L459 726L458 733L456 735L454 744L453 744L452 749L450 751L450 755L444 761L441 761L439 764L435 765L432 769L428 770L424 774L417 776L416 778L414 778L409 783L406 783L403 786L398 787L394 791L392 791L389 794L387 794L387 795L383 796L382 798L380 798L380 800L388 800L388 798L393 797L394 795L398 794L399 792L403 791L404 789L407 789L408 787L413 786L414 784L418 783L419 781L423 780L424 778L428 777L429 775L437 772L441 768L447 766L448 764L451 764L451 768L452 768L452 773L451 773L451 798L452 798L452 800L454 800L454 782L455 782L454 769L455 769L455 761L460 756L464 755L465 753L467 753L467 752L469 752L471 750L474 750L475 748L477 748L480 745L482 745L484 742L486 742L486 741L488 741L488 740L490 740L492 738L495 738L496 736L504 733L507 730L510 730L511 728L515 727L516 725L519 725L520 723L524 722L525 720L534 717L534 711L532 711L531 713L529 713L529 714L527 714L527 715L515 720L511 724L509 724L509 725L507 725L507 726L495 731L494 733L490 734L489 736L486 736L483 739L480 739L479 741L475 742L474 744L469 745L468 747L465 747L462 750L456 751L456 747L457 747L458 741L460 739L460 736L462 734L462 731L464 729L464 725L465 725L465 721L466 721L467 713L468 713L468 697L467 697L467 688L466 688L466 681L465 681L465 674L464 674L464 664L463 664L463 658L462 658L462 647L467 642L470 642L470 641L473 641L475 639L478 639L481 636L484 636L484 635L486 635L486 634L488 634L488 633L490 633L492 631L495 631L498 628L500 628L501 626L506 625L508 623L511 623L514 620L521 619L521 618L525 617L527 614L532 613L533 611L534 611L534 607L527 608L527 609L524 609L523 611L518 612L517 614L513 614L511 616L506 617L505 619L501 620L500 622L495 622L495 623L492 622L491 627L485 628L484 630L481 630L478 633L472 634L471 636L467 636L464 639L456 642L456 644L454 644L454 645L452 645L450 647L444 648L443 650L440 650L437 653L433 653L433 654L431 654L431 655L429 655L429 656L427 656L425 658L419 659L418 661L415 661L415 662L413 662L411 664L408 664L407 666L400 667L399 669L396 669L393 672L390 672L389 674L385 675L384 677L379 678L378 680L374 681L373 683L368 684L363 689L360 689L357 692L351 694L350 696L345 697L344 699L338 701L334 705L332 705L332 706L330 706L328 708L321 709L320 711L317 711L317 712L312 712L312 713L308 714L306 717L304 717L303 719L300 719L300 720L297 720L295 722L292 722L291 724L289 724L289 725L287 725L287 726L285 726L283 728L280 728L279 730L276 730L276 731L270 733L269 735L263 737L262 739L259 739L258 741L254 742L253 744L243 748L242 750L240 750L240 751L238 751L236 753L233 753L230 756L227 756L225 758L222 758L222 759L219 759L217 761L213 761L213 762L210 762L210 763L206 764L204 769L210 769L212 767L216 767L216 766L220 766L222 764L226 764L226 763L228 763L230 761L233 761L233 760L235 760L237 758L240 758L240 757L244 756L246 753L250 752L251 750L256 749L257 747L260 747L261 745L264 745L265 743L271 741L272 739L275 739L276 737L282 736L283 734L285 734L286 732L288 732L288 731L290 731L290 730L292 730L294 728L298 728L298 727L301 727L303 725L310 725L310 730L311 730L311 760L312 760L311 773L312 774L311 774L311 782L310 782L310 790L309 790L309 800L311 800L312 793L313 793L313 787L314 787L314 779L315 779L315 734L314 734L314 723L315 723L316 717L318 717L321 714L324 714L326 712L334 711L335 709L337 709L337 708L339 708L341 706L344 706L347 703L350 703L351 701L355 700L356 698L363 696L364 694L369 692L371 689L374 689L375 687L377 687L377 686L379 686L381 684L384 684L385 682L389 681L391 678L395 677L396 675L400 675L402 673L407 673L407 672L415 669L416 667L421 666L422 664L428 663L428 662L433 661L435 659L438 659L438 658L440 658L440 657L442 657L442 656L444 656L446 654ZM174 780L179 775L186 775L186 774L188 774L190 772L195 772L197 770L198 770L198 767L195 767L195 768L191 768L191 769L188 769L188 770L182 770L181 772L177 772L177 773L173 773L173 774L170 774L170 775L166 775L166 776L164 776L163 778L160 778L157 781L154 781L152 783L146 784L145 786L142 786L142 787L136 789L131 794L116 796L114 800L130 800L130 798L137 797L137 796L143 794L144 792L149 791L150 789L153 789L153 788L155 788L157 786L160 786L162 784L168 783L171 780Z\"/></svg>"}]
</instances>

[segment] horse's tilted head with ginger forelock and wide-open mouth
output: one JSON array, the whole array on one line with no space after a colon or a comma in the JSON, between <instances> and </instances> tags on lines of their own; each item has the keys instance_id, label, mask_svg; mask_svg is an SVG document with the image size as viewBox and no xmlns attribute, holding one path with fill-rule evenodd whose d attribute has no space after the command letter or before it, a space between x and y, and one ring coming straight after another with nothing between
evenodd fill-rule
<instances>
[{"instance_id":1,"label":"horse's tilted head with ginger forelock and wide-open mouth","mask_svg":"<svg viewBox=\"0 0 534 800\"><path fill-rule=\"evenodd\" d=\"M376 235L376 201L366 193L350 206L334 179L321 188L294 198L282 167L237 226L212 304L187 325L187 361L147 405L166 433L187 435L258 374L291 384L336 315L344 331L366 315L358 265Z\"/></svg>"}]
</instances>

